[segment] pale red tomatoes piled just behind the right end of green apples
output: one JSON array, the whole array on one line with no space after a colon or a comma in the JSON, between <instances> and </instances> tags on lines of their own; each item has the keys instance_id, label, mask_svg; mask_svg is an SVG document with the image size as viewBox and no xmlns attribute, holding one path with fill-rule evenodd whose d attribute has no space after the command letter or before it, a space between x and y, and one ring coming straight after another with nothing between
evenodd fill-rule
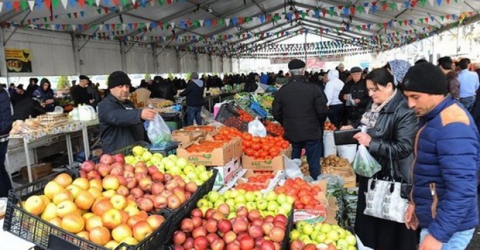
<instances>
[{"instance_id":1,"label":"pale red tomatoes piled just behind the right end of green apples","mask_svg":"<svg viewBox=\"0 0 480 250\"><path fill-rule=\"evenodd\" d=\"M302 178L285 180L283 186L275 187L278 194L287 194L295 198L295 209L315 209L321 202L315 196L321 192L318 185L310 185Z\"/></svg>"}]
</instances>

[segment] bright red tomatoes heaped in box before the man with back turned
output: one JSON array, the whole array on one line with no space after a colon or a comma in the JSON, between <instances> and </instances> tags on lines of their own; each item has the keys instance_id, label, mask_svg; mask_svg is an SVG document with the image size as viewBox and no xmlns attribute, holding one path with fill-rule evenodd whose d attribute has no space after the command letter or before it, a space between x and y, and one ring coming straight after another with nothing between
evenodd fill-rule
<instances>
[{"instance_id":1,"label":"bright red tomatoes heaped in box before the man with back turned","mask_svg":"<svg viewBox=\"0 0 480 250\"><path fill-rule=\"evenodd\" d=\"M289 147L289 142L280 136L259 137L244 133L242 139L243 153L254 159L272 159Z\"/></svg>"}]
</instances>

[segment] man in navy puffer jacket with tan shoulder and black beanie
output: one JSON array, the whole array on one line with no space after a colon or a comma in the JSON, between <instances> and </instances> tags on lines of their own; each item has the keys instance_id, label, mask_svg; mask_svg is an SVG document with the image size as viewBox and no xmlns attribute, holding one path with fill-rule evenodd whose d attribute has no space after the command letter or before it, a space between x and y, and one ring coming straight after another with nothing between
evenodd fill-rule
<instances>
[{"instance_id":1,"label":"man in navy puffer jacket with tan shoulder and black beanie","mask_svg":"<svg viewBox=\"0 0 480 250\"><path fill-rule=\"evenodd\" d=\"M479 224L477 126L447 95L447 79L431 63L410 68L403 90L422 127L415 139L413 192L405 224L422 228L419 250L465 249Z\"/></svg>"}]
</instances>

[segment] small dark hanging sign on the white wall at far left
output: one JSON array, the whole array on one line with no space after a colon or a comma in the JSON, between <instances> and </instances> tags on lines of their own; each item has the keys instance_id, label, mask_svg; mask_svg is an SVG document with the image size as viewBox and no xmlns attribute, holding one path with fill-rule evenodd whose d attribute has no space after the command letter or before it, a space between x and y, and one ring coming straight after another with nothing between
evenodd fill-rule
<instances>
[{"instance_id":1,"label":"small dark hanging sign on the white wall at far left","mask_svg":"<svg viewBox=\"0 0 480 250\"><path fill-rule=\"evenodd\" d=\"M5 58L7 63L7 72L32 72L32 55L30 49L5 48Z\"/></svg>"}]
</instances>

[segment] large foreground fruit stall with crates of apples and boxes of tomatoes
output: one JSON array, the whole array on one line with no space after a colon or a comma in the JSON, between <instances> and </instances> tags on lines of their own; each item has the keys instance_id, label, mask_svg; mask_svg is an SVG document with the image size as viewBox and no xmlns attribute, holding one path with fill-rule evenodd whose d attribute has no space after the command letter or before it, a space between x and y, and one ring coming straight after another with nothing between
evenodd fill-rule
<instances>
[{"instance_id":1,"label":"large foreground fruit stall with crates of apples and boxes of tomatoes","mask_svg":"<svg viewBox=\"0 0 480 250\"><path fill-rule=\"evenodd\" d=\"M173 131L169 150L135 143L17 187L3 229L40 249L356 249L349 160L291 176L281 126L254 136L241 110Z\"/></svg>"}]
</instances>

